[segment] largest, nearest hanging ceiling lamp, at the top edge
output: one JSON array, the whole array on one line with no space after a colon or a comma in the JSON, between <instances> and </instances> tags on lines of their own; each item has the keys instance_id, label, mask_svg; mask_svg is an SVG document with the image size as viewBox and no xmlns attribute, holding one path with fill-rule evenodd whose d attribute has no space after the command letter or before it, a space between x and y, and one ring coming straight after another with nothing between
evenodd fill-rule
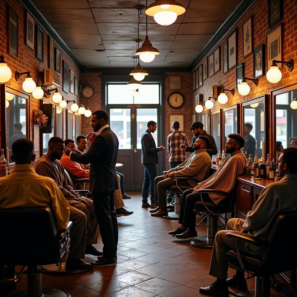
<instances>
[{"instance_id":1,"label":"largest, nearest hanging ceiling lamp, at the top edge","mask_svg":"<svg viewBox=\"0 0 297 297\"><path fill-rule=\"evenodd\" d=\"M175 0L156 0L146 9L146 15L154 17L156 23L168 26L176 21L178 15L183 14L186 9Z\"/></svg>"}]
</instances>

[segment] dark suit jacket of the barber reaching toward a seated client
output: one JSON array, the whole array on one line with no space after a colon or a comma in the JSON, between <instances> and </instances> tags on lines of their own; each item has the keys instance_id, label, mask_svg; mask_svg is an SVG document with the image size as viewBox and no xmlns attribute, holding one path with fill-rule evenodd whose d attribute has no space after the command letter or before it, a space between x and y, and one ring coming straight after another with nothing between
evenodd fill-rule
<instances>
[{"instance_id":1,"label":"dark suit jacket of the barber reaching toward a seated client","mask_svg":"<svg viewBox=\"0 0 297 297\"><path fill-rule=\"evenodd\" d=\"M116 176L119 140L110 127L95 137L85 154L71 153L70 159L90 164L90 192L112 192L119 189Z\"/></svg>"}]
</instances>

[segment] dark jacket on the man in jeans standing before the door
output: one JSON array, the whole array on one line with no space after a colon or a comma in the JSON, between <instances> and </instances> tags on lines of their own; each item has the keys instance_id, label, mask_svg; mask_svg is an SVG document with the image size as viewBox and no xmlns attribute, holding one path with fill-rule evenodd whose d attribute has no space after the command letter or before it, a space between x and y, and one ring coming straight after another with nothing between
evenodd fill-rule
<instances>
[{"instance_id":1,"label":"dark jacket on the man in jeans standing before the door","mask_svg":"<svg viewBox=\"0 0 297 297\"><path fill-rule=\"evenodd\" d=\"M141 164L158 164L158 151L153 136L146 130L141 137Z\"/></svg>"}]
</instances>

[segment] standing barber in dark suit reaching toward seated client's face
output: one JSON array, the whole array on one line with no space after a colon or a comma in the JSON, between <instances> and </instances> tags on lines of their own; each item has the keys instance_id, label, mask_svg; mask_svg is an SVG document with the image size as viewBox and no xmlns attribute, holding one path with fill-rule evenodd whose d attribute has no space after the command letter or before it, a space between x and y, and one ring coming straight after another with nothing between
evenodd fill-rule
<instances>
[{"instance_id":1,"label":"standing barber in dark suit reaching toward seated client's face","mask_svg":"<svg viewBox=\"0 0 297 297\"><path fill-rule=\"evenodd\" d=\"M118 189L116 160L119 140L108 126L108 113L96 110L92 113L91 127L97 136L85 154L65 150L72 161L90 164L90 192L100 228L103 256L92 262L95 267L115 266L118 245L118 221L114 207L114 191ZM76 153L77 152L77 153Z\"/></svg>"}]
</instances>

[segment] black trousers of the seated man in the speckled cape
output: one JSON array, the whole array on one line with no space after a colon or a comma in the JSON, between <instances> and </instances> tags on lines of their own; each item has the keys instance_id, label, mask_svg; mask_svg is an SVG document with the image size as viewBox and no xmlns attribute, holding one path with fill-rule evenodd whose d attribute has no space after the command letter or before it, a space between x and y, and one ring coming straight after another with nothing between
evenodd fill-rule
<instances>
[{"instance_id":1,"label":"black trousers of the seated man in the speckled cape","mask_svg":"<svg viewBox=\"0 0 297 297\"><path fill-rule=\"evenodd\" d=\"M196 211L194 211L195 203L201 201L200 193L192 193L193 190L186 190L181 197L181 210L178 222L190 230L195 230ZM212 202L208 194L202 194L204 202Z\"/></svg>"}]
</instances>

